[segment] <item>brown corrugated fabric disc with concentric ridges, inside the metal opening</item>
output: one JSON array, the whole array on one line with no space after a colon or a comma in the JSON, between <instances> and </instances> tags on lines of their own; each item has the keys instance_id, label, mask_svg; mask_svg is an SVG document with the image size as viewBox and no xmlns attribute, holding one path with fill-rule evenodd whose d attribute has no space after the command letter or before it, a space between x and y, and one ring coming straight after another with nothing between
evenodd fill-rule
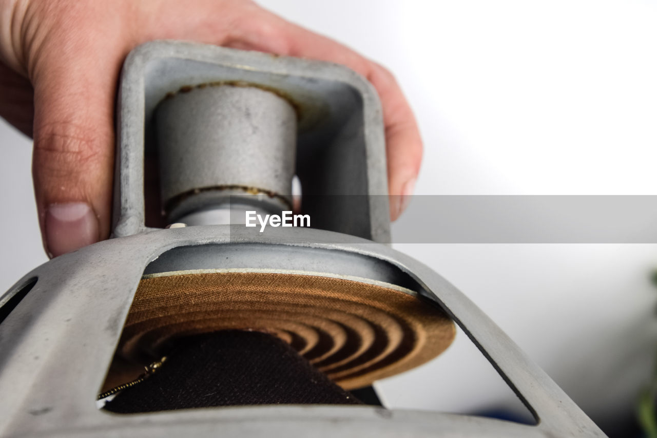
<instances>
[{"instance_id":1,"label":"brown corrugated fabric disc with concentric ridges, inside the metal opening","mask_svg":"<svg viewBox=\"0 0 657 438\"><path fill-rule=\"evenodd\" d=\"M139 283L118 353L148 363L177 338L230 329L276 335L347 390L431 360L455 335L440 308L384 283L273 272L168 272Z\"/></svg>"}]
</instances>

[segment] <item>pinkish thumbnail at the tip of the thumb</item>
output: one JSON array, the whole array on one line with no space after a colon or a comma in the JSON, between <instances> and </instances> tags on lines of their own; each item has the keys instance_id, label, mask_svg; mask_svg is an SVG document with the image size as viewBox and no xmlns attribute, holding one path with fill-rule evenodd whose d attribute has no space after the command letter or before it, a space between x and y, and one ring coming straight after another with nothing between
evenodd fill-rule
<instances>
[{"instance_id":1,"label":"pinkish thumbnail at the tip of the thumb","mask_svg":"<svg viewBox=\"0 0 657 438\"><path fill-rule=\"evenodd\" d=\"M45 214L47 251L58 256L98 241L98 219L87 203L51 204Z\"/></svg>"}]
</instances>

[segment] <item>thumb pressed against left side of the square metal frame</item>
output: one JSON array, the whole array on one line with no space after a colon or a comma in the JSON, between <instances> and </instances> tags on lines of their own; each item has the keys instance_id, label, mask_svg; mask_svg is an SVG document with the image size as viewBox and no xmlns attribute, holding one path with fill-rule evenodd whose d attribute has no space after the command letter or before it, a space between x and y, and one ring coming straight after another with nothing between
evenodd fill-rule
<instances>
[{"instance_id":1,"label":"thumb pressed against left side of the square metal frame","mask_svg":"<svg viewBox=\"0 0 657 438\"><path fill-rule=\"evenodd\" d=\"M32 173L43 243L49 256L58 256L110 231L118 67L79 50L70 57L47 53L50 59L39 60L30 75Z\"/></svg>"}]
</instances>

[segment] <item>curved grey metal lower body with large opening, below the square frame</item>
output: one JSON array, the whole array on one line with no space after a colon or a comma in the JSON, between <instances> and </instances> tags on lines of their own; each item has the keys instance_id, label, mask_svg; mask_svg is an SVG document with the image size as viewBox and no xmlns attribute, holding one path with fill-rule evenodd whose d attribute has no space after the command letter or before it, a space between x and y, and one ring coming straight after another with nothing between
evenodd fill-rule
<instances>
[{"instance_id":1,"label":"curved grey metal lower body with large opening, below the square frame","mask_svg":"<svg viewBox=\"0 0 657 438\"><path fill-rule=\"evenodd\" d=\"M388 280L405 276L405 287L415 287L417 293L453 316L535 413L539 424L373 407L216 408L129 416L101 412L95 407L95 397L137 284L150 262L177 247L198 247L215 254L225 249L229 261L223 267L243 268L243 260L250 257L264 266L271 260L267 251L285 258L286 251L300 250L306 255L315 253L316 260L361 260L361 272L346 272L348 275L376 278L378 269L390 272L384 274ZM242 256L231 256L236 251L243 251ZM321 267L302 263L312 258L315 256L286 258L286 269L316 272ZM208 258L208 267L213 263ZM321 271L340 274L341 265L344 268L345 263L327 264ZM0 324L0 433L4 436L604 436L552 379L455 287L416 260L365 239L312 229L273 228L258 233L243 226L151 231L59 256L30 272L2 301L31 278L38 278L34 288Z\"/></svg>"}]
</instances>

